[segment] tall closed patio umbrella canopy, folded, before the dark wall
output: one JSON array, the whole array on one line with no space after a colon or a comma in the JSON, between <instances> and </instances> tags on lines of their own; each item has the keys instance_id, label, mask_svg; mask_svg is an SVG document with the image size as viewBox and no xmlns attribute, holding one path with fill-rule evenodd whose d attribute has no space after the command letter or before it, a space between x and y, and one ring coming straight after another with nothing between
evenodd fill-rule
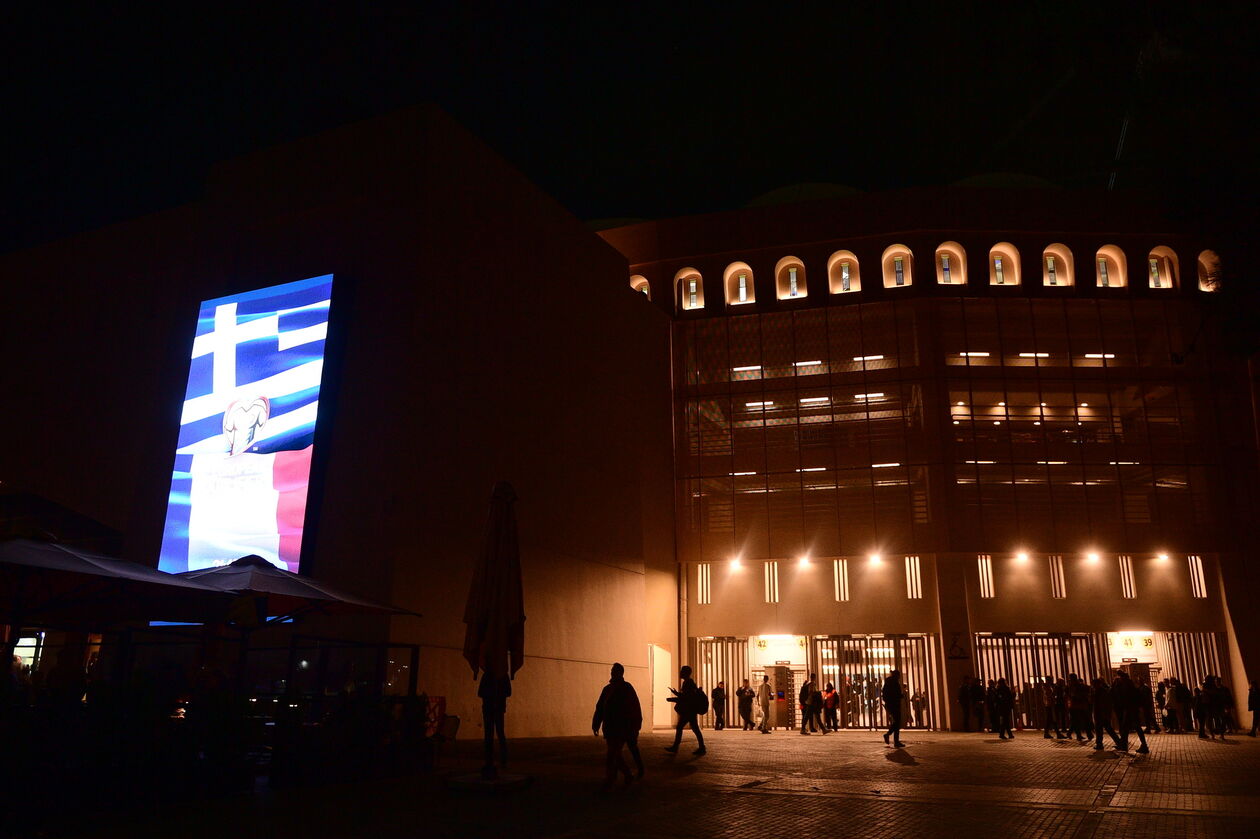
<instances>
[{"instance_id":1,"label":"tall closed patio umbrella canopy, folded, before the dark wall","mask_svg":"<svg viewBox=\"0 0 1260 839\"><path fill-rule=\"evenodd\" d=\"M494 486L485 542L464 607L464 658L490 675L517 675L525 658L525 606L517 542L517 494L507 481ZM509 674L510 655L510 674Z\"/></svg>"}]
</instances>

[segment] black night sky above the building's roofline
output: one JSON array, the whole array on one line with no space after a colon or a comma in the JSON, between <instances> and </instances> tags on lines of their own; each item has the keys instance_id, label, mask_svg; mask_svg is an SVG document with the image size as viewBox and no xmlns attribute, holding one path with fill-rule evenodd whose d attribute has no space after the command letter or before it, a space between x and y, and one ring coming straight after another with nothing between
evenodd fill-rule
<instances>
[{"instance_id":1,"label":"black night sky above the building's roofline","mask_svg":"<svg viewBox=\"0 0 1260 839\"><path fill-rule=\"evenodd\" d=\"M1250 205L1257 184L1255 20L1206 4L53 5L6 13L0 252L194 199L218 160L426 100L587 219L799 181L1102 188L1126 115L1118 189L1197 212Z\"/></svg>"}]
</instances>

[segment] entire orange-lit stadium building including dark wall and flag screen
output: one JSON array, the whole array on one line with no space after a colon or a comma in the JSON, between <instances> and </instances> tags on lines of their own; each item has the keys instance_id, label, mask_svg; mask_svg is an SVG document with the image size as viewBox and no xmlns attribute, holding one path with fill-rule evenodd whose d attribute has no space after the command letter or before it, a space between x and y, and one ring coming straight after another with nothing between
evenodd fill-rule
<instances>
[{"instance_id":1,"label":"entire orange-lit stadium building including dark wall and flag screen","mask_svg":"<svg viewBox=\"0 0 1260 839\"><path fill-rule=\"evenodd\" d=\"M422 612L340 629L420 644L421 688L475 723L462 606L509 480L515 736L587 732L612 661L655 724L683 663L731 692L772 674L784 724L809 671L856 727L891 668L931 727L958 727L966 674L1237 690L1256 443L1220 247L1149 202L992 188L595 234L417 108L0 257L28 407L0 481L147 564L248 551ZM247 340L289 360L247 372ZM255 456L237 509L266 538L215 533L198 510L243 495L198 506L226 472L195 459Z\"/></svg>"}]
</instances>

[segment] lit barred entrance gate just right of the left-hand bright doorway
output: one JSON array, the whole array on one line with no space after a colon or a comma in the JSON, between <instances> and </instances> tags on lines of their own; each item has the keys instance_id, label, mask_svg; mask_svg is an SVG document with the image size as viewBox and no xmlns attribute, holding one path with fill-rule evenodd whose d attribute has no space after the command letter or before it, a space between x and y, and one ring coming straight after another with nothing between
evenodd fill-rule
<instances>
[{"instance_id":1,"label":"lit barred entrance gate just right of the left-hand bright doorway","mask_svg":"<svg viewBox=\"0 0 1260 839\"><path fill-rule=\"evenodd\" d=\"M820 688L828 683L840 694L837 719L842 728L886 728L883 679L901 671L903 728L940 724L936 679L936 641L930 635L830 635L810 641L810 671ZM793 702L795 702L793 697Z\"/></svg>"}]
</instances>

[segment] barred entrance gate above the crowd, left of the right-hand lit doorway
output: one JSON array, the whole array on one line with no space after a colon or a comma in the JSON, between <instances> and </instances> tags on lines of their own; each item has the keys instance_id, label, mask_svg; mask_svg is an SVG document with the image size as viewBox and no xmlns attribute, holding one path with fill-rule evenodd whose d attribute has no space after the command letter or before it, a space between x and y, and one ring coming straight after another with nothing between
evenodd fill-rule
<instances>
[{"instance_id":1,"label":"barred entrance gate above the crowd, left of the right-hand lit doorway","mask_svg":"<svg viewBox=\"0 0 1260 839\"><path fill-rule=\"evenodd\" d=\"M1042 727L1045 713L1034 685L1045 676L1058 680L1075 673L1090 682L1106 678L1110 665L1101 632L976 632L975 660L984 682L1007 680L1016 698L1016 724L1034 728Z\"/></svg>"}]
</instances>

